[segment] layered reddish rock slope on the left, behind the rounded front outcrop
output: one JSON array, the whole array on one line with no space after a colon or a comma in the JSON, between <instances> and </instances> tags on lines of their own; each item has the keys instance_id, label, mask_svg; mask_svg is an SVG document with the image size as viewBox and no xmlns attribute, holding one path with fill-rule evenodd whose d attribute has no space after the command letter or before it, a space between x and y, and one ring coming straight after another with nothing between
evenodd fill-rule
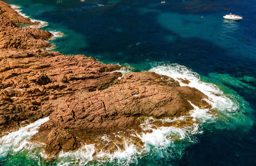
<instances>
[{"instance_id":1,"label":"layered reddish rock slope on the left, behind the rounded front outcrop","mask_svg":"<svg viewBox=\"0 0 256 166\"><path fill-rule=\"evenodd\" d=\"M10 15L17 12L1 1L0 11L0 135L49 116L61 96L102 89L122 75L113 72L118 65L42 50L51 33L16 26Z\"/></svg>"}]
</instances>

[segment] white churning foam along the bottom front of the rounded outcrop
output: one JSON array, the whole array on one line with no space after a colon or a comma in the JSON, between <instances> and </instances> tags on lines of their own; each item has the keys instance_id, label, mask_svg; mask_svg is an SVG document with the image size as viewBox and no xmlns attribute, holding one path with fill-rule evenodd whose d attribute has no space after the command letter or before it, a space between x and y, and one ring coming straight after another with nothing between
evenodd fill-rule
<instances>
[{"instance_id":1,"label":"white churning foam along the bottom front of the rounded outcrop","mask_svg":"<svg viewBox=\"0 0 256 166\"><path fill-rule=\"evenodd\" d=\"M177 118L178 119L178 118ZM142 142L145 143L142 147L137 147L132 143L124 143L124 149L118 149L115 153L106 153L100 152L93 157L92 156L94 151L94 145L86 145L83 146L81 149L74 151L72 153L61 152L58 159L60 160L59 165L84 165L92 161L97 161L100 163L115 163L115 165L129 165L131 163L138 163L138 158L141 158L145 155L154 155L160 157L166 157L172 155L174 156L181 156L183 147L175 146L175 141L185 141L194 143L196 139L193 136L196 133L200 133L198 124L194 124L193 126L189 126L187 128L175 128L173 126L170 127L160 127L157 129L152 128L150 121L152 117L148 117L148 121L146 120L141 127L146 129L151 129L152 133L140 133L134 135L141 139ZM163 119L163 121L173 121L173 119ZM118 135L118 133L116 133ZM172 136L172 137L171 137ZM173 139L175 138L175 139ZM104 135L102 137L104 141L109 141L108 136ZM164 155L165 154L165 155ZM171 155L171 157L173 157Z\"/></svg>"}]
</instances>

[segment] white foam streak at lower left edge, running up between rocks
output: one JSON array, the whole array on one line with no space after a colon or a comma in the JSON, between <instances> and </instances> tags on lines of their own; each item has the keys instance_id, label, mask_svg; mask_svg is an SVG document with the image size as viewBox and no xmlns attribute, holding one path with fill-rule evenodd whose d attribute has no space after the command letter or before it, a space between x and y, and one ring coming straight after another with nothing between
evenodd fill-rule
<instances>
[{"instance_id":1,"label":"white foam streak at lower left edge, running up between rocks","mask_svg":"<svg viewBox=\"0 0 256 166\"><path fill-rule=\"evenodd\" d=\"M37 133L39 126L47 121L49 121L49 117L39 119L38 121L35 121L28 126L20 128L16 132L11 132L8 133L8 135L1 137L0 157L6 156L10 150L19 152L20 150L24 149L24 147L28 146L29 137Z\"/></svg>"}]
</instances>

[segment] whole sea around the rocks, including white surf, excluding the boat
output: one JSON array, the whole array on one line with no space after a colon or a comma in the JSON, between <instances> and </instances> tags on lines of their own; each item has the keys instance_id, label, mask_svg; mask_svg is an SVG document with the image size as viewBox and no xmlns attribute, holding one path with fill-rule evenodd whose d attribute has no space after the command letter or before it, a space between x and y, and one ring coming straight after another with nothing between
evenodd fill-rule
<instances>
[{"instance_id":1,"label":"whole sea around the rocks, including white surf, excluding the boat","mask_svg":"<svg viewBox=\"0 0 256 166\"><path fill-rule=\"evenodd\" d=\"M187 78L189 86L211 96L219 116L195 110L192 128L159 128L141 135L145 149L92 158L93 147L42 158L42 146L6 142L2 165L256 165L256 2L255 1L6 1L22 13L61 32L49 41L63 54L93 56L102 63L125 64ZM240 22L223 20L234 12ZM197 112L197 113L196 113ZM145 126L147 126L145 124ZM32 127L33 129L36 126ZM27 131L27 130L24 130ZM35 130L36 132L36 130ZM26 132L25 132L26 133ZM177 140L168 139L174 135ZM13 137L5 138L12 140ZM0 143L3 138L0 139ZM20 148L19 148L20 147Z\"/></svg>"}]
</instances>

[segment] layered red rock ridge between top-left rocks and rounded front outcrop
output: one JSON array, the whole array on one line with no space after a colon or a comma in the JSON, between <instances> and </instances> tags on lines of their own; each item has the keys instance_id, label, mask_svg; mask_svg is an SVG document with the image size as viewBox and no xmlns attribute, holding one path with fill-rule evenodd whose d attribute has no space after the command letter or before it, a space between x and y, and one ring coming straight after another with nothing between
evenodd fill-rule
<instances>
[{"instance_id":1,"label":"layered red rock ridge between top-left rocks and rounded front outcrop","mask_svg":"<svg viewBox=\"0 0 256 166\"><path fill-rule=\"evenodd\" d=\"M61 96L102 89L122 75L112 72L118 65L81 55L17 49L0 49L0 55L0 114L7 130L22 121L49 116Z\"/></svg>"}]
</instances>

